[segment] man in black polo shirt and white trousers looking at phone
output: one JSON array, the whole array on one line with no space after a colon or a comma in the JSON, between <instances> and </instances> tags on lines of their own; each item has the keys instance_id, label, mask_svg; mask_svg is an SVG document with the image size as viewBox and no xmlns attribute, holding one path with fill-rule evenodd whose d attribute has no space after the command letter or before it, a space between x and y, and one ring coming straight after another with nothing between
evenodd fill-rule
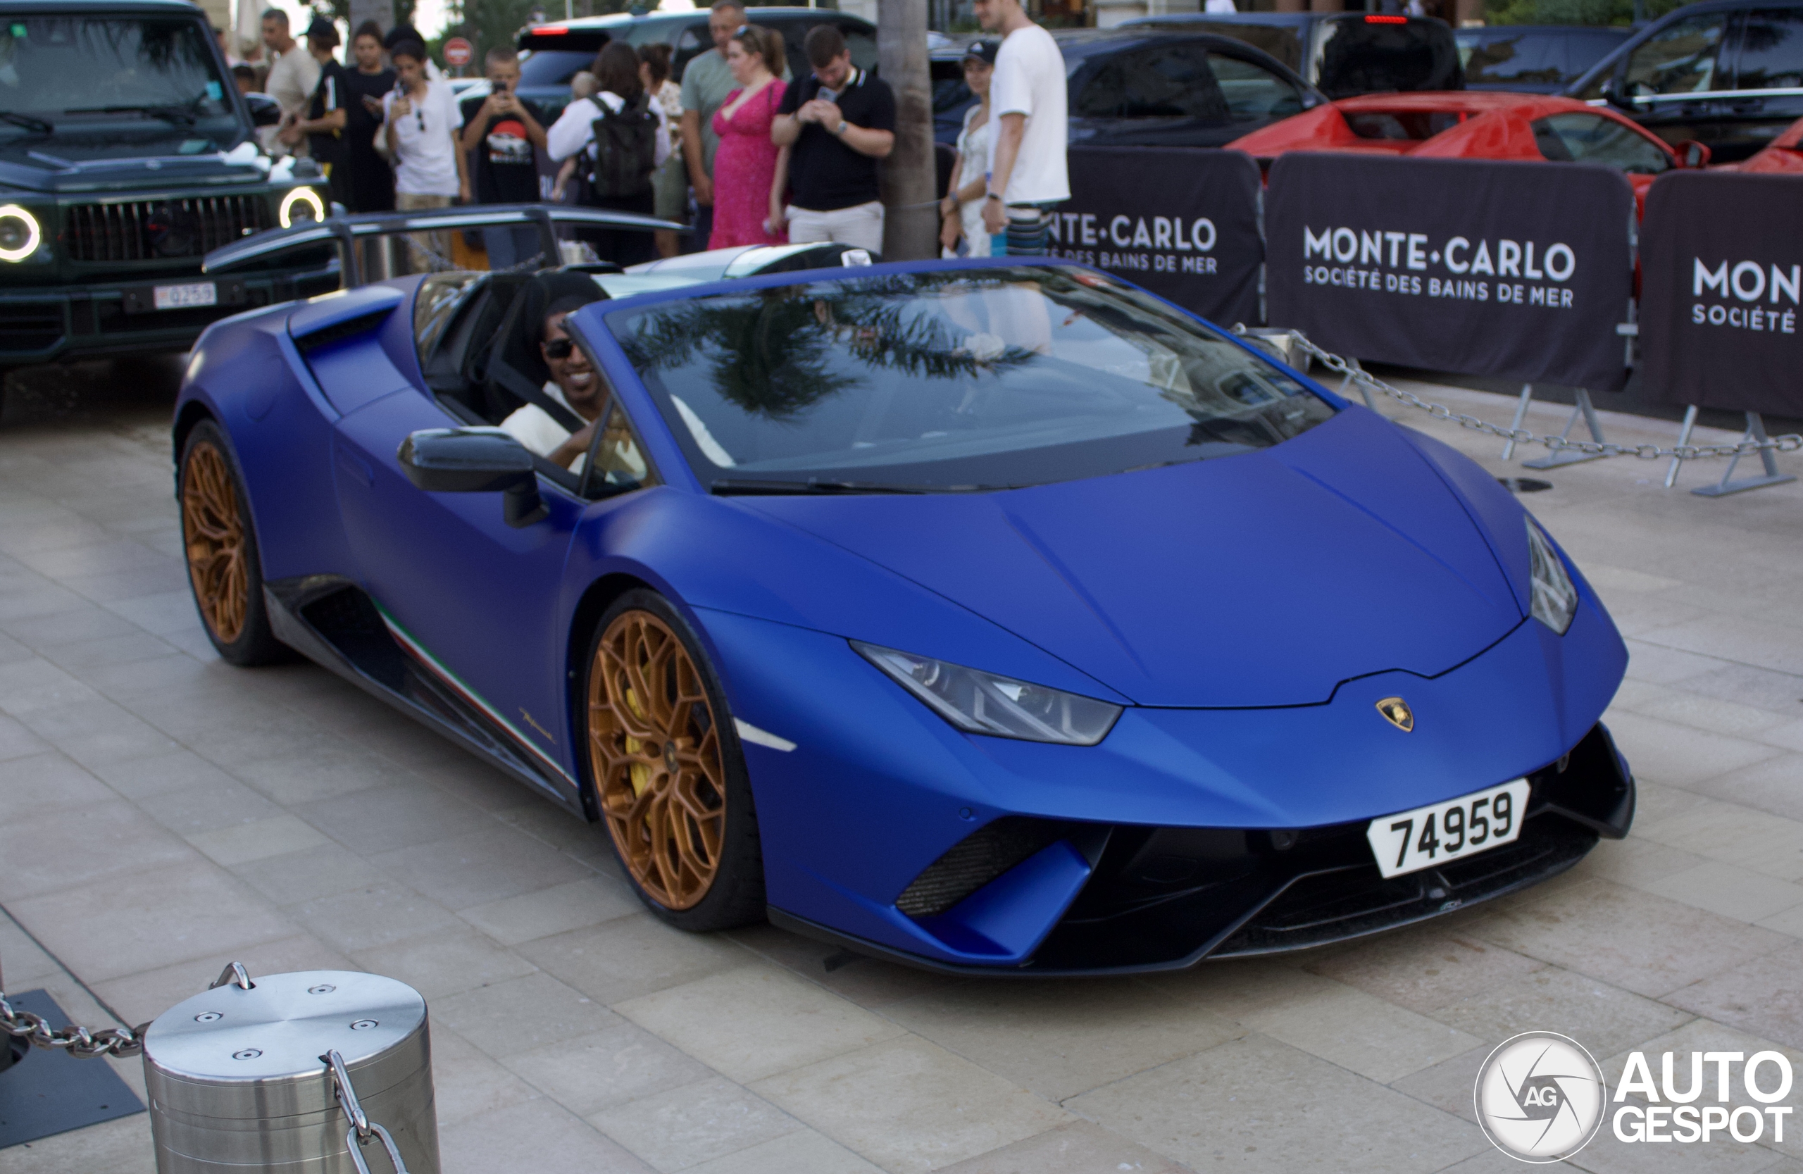
<instances>
[{"instance_id":1,"label":"man in black polo shirt and white trousers looking at phone","mask_svg":"<svg viewBox=\"0 0 1803 1174\"><path fill-rule=\"evenodd\" d=\"M770 124L770 141L783 148L770 216L788 218L795 243L829 240L882 252L876 161L896 144L894 94L885 81L851 65L851 50L837 27L815 25L802 47L813 74L783 94Z\"/></svg>"}]
</instances>

